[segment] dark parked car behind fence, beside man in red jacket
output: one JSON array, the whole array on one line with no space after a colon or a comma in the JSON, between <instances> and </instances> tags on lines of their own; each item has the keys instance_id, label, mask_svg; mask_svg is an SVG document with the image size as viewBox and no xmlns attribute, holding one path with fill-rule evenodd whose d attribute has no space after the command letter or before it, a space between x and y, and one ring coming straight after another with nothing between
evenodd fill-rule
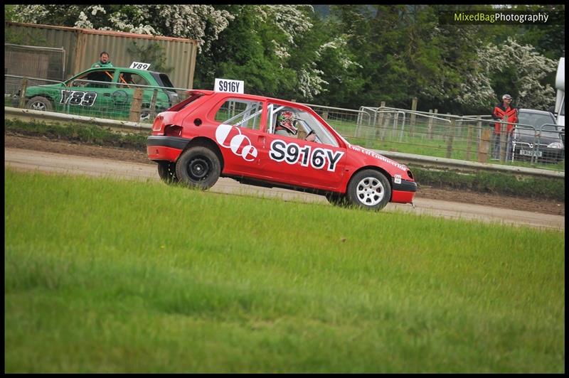
<instances>
[{"instance_id":1,"label":"dark parked car behind fence, beside man in red jacket","mask_svg":"<svg viewBox=\"0 0 569 378\"><path fill-rule=\"evenodd\" d=\"M565 158L562 131L551 112L519 109L518 122L512 139L513 161L558 163Z\"/></svg>"}]
</instances>

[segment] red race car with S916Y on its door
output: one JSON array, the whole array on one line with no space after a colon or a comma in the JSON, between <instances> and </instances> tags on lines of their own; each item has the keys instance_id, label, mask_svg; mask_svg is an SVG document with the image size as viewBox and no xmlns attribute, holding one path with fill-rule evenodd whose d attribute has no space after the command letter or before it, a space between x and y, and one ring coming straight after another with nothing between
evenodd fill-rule
<instances>
[{"instance_id":1,"label":"red race car with S916Y on its door","mask_svg":"<svg viewBox=\"0 0 569 378\"><path fill-rule=\"evenodd\" d=\"M223 176L371 210L417 191L407 166L349 144L310 107L263 96L190 90L156 116L147 153L166 182L203 189Z\"/></svg>"}]
</instances>

